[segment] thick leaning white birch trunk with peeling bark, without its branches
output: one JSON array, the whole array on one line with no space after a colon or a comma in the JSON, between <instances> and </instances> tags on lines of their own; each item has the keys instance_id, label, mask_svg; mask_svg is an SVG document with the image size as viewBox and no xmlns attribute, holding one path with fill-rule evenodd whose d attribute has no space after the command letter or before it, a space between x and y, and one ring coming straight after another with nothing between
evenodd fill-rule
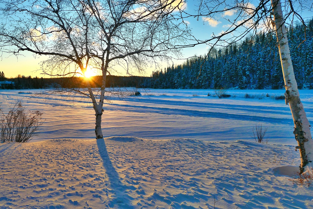
<instances>
[{"instance_id":1,"label":"thick leaning white birch trunk with peeling bark, without its branches","mask_svg":"<svg viewBox=\"0 0 313 209\"><path fill-rule=\"evenodd\" d=\"M310 132L310 124L300 101L300 94L295 80L280 0L271 0L271 3L273 7L280 61L286 88L285 102L286 105L289 104L290 106L292 118L295 124L294 134L299 145L296 149L298 148L300 150L300 172L302 173L305 166L312 168L313 140Z\"/></svg>"}]
</instances>

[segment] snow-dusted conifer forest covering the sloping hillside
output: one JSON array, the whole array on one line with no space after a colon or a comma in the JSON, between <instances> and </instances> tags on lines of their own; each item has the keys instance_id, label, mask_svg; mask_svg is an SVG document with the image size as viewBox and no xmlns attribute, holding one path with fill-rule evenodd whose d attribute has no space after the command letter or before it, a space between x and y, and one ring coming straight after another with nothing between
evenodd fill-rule
<instances>
[{"instance_id":1,"label":"snow-dusted conifer forest covering the sloping hillside","mask_svg":"<svg viewBox=\"0 0 313 209\"><path fill-rule=\"evenodd\" d=\"M313 19L307 26L305 29L297 24L287 29L300 89L313 88ZM279 89L284 86L276 36L272 33L259 33L223 49L213 48L207 56L153 72L151 80L146 82L147 88Z\"/></svg>"}]
</instances>

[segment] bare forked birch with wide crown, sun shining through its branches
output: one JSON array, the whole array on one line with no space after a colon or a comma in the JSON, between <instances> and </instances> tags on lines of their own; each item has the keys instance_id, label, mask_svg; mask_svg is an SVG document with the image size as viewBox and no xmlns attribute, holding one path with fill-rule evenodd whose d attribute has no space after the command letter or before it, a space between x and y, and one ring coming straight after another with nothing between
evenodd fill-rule
<instances>
[{"instance_id":1,"label":"bare forked birch with wide crown, sun shining through its branches","mask_svg":"<svg viewBox=\"0 0 313 209\"><path fill-rule=\"evenodd\" d=\"M86 89L63 89L89 97L95 110L95 135L102 138L101 115L106 76L118 67L142 70L178 56L175 43L188 37L175 19L182 0L0 0L0 48L47 56L50 76L84 76ZM101 88L90 86L89 68L100 72Z\"/></svg>"}]
</instances>

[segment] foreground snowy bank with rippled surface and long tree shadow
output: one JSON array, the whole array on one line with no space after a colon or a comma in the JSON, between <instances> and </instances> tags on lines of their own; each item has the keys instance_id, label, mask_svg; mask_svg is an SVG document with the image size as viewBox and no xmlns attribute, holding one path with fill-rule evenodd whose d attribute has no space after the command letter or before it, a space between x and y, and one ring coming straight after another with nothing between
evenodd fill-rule
<instances>
[{"instance_id":1,"label":"foreground snowy bank with rippled surface and long tree shadow","mask_svg":"<svg viewBox=\"0 0 313 209\"><path fill-rule=\"evenodd\" d=\"M0 208L312 208L284 167L298 155L244 140L1 143Z\"/></svg>"}]
</instances>

